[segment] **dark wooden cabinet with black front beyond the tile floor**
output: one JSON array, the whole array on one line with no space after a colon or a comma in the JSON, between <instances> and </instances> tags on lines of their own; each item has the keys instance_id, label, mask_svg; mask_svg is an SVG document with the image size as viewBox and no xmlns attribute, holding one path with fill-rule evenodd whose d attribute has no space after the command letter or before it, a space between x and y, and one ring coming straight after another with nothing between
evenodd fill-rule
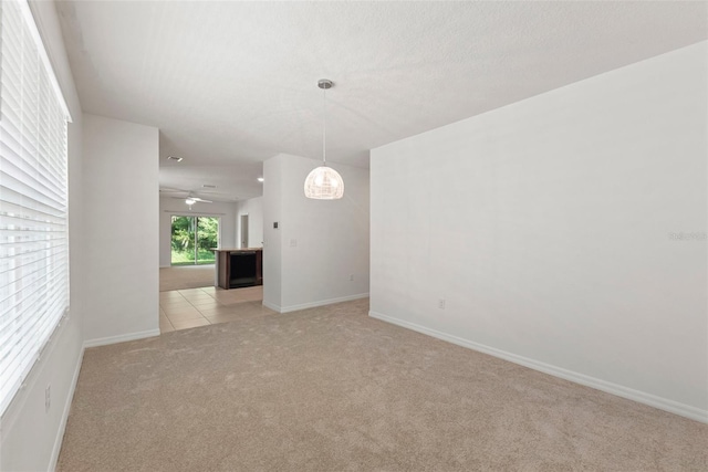
<instances>
[{"instance_id":1,"label":"dark wooden cabinet with black front beyond the tile floor","mask_svg":"<svg viewBox=\"0 0 708 472\"><path fill-rule=\"evenodd\" d=\"M263 250L215 249L217 284L225 290L263 285Z\"/></svg>"}]
</instances>

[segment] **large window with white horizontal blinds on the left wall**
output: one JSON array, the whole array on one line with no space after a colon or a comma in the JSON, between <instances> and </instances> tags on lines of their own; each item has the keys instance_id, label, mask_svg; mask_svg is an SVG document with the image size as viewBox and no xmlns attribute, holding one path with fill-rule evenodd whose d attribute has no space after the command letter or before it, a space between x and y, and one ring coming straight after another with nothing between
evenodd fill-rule
<instances>
[{"instance_id":1,"label":"large window with white horizontal blinds on the left wall","mask_svg":"<svg viewBox=\"0 0 708 472\"><path fill-rule=\"evenodd\" d=\"M0 2L0 413L69 311L69 113L27 0Z\"/></svg>"}]
</instances>

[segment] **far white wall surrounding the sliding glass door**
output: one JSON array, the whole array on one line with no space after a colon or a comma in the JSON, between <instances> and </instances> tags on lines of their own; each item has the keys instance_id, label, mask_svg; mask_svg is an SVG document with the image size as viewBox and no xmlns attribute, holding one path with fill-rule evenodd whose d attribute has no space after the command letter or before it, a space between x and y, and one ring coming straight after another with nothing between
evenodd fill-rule
<instances>
[{"instance_id":1,"label":"far white wall surrounding the sliding glass door","mask_svg":"<svg viewBox=\"0 0 708 472\"><path fill-rule=\"evenodd\" d=\"M171 218L173 216L216 217L219 218L219 247L237 248L236 202L215 201L195 203L189 207L183 199L160 197L159 199L159 266L169 268L171 263Z\"/></svg>"}]
</instances>

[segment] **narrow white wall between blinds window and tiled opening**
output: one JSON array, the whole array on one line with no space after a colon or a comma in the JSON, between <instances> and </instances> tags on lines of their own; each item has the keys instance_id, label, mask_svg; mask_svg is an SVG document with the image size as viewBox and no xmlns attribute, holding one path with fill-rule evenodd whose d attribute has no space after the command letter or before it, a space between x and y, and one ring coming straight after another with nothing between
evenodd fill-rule
<instances>
[{"instance_id":1,"label":"narrow white wall between blinds window and tiled opening","mask_svg":"<svg viewBox=\"0 0 708 472\"><path fill-rule=\"evenodd\" d=\"M159 335L158 130L84 114L87 345Z\"/></svg>"}]
</instances>

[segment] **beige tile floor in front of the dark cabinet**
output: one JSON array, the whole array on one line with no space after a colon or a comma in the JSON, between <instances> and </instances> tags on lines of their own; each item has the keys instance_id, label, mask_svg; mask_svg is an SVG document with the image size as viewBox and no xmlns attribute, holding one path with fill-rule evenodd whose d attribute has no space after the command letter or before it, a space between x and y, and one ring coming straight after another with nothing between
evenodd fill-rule
<instances>
[{"instance_id":1,"label":"beige tile floor in front of the dark cabinet","mask_svg":"<svg viewBox=\"0 0 708 472\"><path fill-rule=\"evenodd\" d=\"M175 290L159 294L159 331L167 333L277 314L262 305L263 286Z\"/></svg>"}]
</instances>

